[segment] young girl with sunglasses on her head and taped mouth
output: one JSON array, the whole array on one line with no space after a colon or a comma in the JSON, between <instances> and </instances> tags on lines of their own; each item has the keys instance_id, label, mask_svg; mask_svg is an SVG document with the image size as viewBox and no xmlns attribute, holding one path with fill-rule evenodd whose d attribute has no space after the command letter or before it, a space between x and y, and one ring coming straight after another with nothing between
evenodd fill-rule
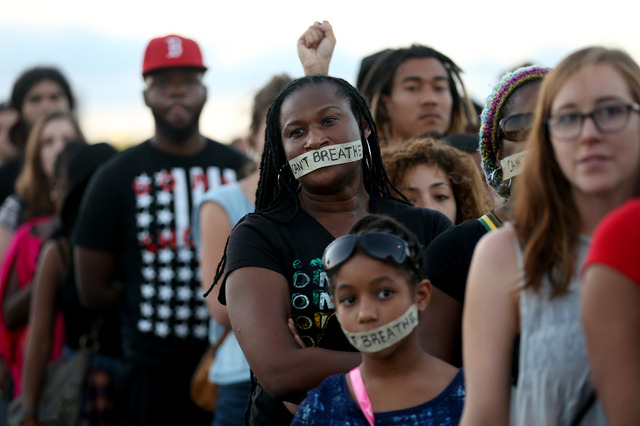
<instances>
[{"instance_id":1,"label":"young girl with sunglasses on her head and taped mouth","mask_svg":"<svg viewBox=\"0 0 640 426\"><path fill-rule=\"evenodd\" d=\"M417 332L431 294L420 252L404 226L373 214L327 246L336 316L362 363L311 390L292 425L458 424L463 370L425 352Z\"/></svg>"}]
</instances>

